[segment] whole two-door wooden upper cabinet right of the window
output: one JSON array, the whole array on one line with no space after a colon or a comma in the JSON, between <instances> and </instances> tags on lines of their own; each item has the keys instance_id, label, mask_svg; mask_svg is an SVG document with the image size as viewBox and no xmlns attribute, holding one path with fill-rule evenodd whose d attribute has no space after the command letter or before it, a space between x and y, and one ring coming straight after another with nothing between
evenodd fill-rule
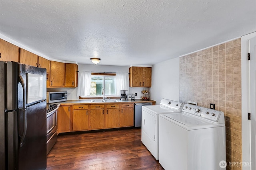
<instances>
[{"instance_id":1,"label":"whole two-door wooden upper cabinet right of the window","mask_svg":"<svg viewBox=\"0 0 256 170\"><path fill-rule=\"evenodd\" d=\"M130 67L130 87L151 87L151 67Z\"/></svg>"}]
</instances>

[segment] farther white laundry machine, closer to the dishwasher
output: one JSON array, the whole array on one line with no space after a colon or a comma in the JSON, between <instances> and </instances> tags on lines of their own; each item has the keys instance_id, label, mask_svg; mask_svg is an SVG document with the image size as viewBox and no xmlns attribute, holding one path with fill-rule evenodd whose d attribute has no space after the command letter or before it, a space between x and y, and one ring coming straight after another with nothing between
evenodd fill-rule
<instances>
[{"instance_id":1,"label":"farther white laundry machine, closer to the dishwasher","mask_svg":"<svg viewBox=\"0 0 256 170\"><path fill-rule=\"evenodd\" d=\"M159 159L159 115L164 113L181 113L184 104L162 99L160 105L142 106L141 141L151 154Z\"/></svg>"}]
</instances>

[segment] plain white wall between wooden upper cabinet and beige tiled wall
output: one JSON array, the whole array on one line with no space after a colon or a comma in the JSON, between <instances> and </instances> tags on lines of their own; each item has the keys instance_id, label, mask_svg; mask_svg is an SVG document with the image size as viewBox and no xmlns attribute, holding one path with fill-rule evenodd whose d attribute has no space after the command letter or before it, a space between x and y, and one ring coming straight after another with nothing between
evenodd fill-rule
<instances>
[{"instance_id":1,"label":"plain white wall between wooden upper cabinet and beige tiled wall","mask_svg":"<svg viewBox=\"0 0 256 170\"><path fill-rule=\"evenodd\" d=\"M159 104L162 98L179 101L180 58L170 59L152 66L150 99Z\"/></svg>"}]
</instances>

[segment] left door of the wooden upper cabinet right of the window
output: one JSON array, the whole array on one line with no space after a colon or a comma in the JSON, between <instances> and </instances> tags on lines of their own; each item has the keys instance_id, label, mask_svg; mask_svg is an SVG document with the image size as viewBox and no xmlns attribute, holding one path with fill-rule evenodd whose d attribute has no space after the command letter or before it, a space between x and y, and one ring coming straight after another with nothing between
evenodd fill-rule
<instances>
[{"instance_id":1,"label":"left door of the wooden upper cabinet right of the window","mask_svg":"<svg viewBox=\"0 0 256 170\"><path fill-rule=\"evenodd\" d=\"M142 86L142 67L130 67L130 87Z\"/></svg>"}]
</instances>

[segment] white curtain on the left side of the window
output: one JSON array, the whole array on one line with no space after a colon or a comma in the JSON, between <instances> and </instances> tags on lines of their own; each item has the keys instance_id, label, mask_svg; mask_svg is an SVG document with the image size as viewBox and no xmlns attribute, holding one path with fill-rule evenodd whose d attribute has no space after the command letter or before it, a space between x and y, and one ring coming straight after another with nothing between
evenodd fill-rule
<instances>
[{"instance_id":1,"label":"white curtain on the left side of the window","mask_svg":"<svg viewBox=\"0 0 256 170\"><path fill-rule=\"evenodd\" d=\"M77 96L90 96L92 72L78 72Z\"/></svg>"}]
</instances>

